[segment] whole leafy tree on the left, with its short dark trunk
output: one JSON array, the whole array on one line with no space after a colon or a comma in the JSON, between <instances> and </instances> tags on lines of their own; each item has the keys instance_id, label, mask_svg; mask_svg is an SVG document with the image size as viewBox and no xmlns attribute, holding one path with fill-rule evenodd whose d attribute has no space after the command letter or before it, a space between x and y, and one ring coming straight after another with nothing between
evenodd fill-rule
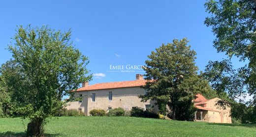
<instances>
[{"instance_id":1,"label":"whole leafy tree on the left, with its short dark trunk","mask_svg":"<svg viewBox=\"0 0 256 137\"><path fill-rule=\"evenodd\" d=\"M70 35L70 30L20 26L9 45L14 61L1 73L15 112L30 119L28 136L41 136L46 118L63 108L63 96L92 78L86 77L88 58L73 47Z\"/></svg>"}]
</instances>

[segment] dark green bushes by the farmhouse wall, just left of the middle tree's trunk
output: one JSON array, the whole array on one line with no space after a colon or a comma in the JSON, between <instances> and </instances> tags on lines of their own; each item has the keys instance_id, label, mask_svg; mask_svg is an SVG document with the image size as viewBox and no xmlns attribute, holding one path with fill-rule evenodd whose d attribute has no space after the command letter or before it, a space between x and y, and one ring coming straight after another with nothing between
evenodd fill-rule
<instances>
[{"instance_id":1,"label":"dark green bushes by the farmhouse wall, just left of the middle tree's trunk","mask_svg":"<svg viewBox=\"0 0 256 137\"><path fill-rule=\"evenodd\" d=\"M134 117L146 117L146 118L159 118L159 115L150 110L143 110L141 108L135 107L130 111L130 115Z\"/></svg>"}]
</instances>

